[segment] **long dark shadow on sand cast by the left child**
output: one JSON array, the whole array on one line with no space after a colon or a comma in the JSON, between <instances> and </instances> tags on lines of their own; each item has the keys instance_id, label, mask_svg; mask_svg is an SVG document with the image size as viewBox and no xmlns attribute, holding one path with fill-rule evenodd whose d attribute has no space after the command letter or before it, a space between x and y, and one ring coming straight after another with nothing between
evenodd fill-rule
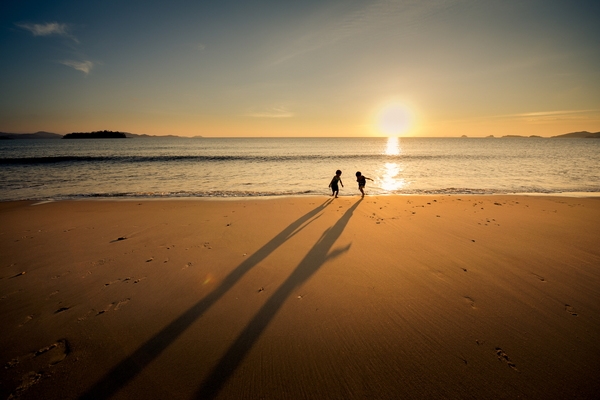
<instances>
[{"instance_id":1,"label":"long dark shadow on sand cast by the left child","mask_svg":"<svg viewBox=\"0 0 600 400\"><path fill-rule=\"evenodd\" d=\"M244 276L244 274L273 253L279 246L304 229L308 224L319 218L319 213L322 212L331 201L331 199L325 201L323 204L288 225L287 228L231 271L215 290L154 335L129 357L117 364L100 381L89 388L79 398L86 400L108 399L121 388L125 387L125 385L135 378L148 364L155 360L171 343L177 340L177 338L201 317L206 310L227 293ZM356 208L356 205L353 208Z\"/></svg>"}]
</instances>

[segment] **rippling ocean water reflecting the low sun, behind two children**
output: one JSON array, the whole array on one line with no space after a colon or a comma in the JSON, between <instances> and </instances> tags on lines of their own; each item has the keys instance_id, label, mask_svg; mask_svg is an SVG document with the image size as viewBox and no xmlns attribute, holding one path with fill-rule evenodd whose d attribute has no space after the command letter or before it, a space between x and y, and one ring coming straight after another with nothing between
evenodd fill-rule
<instances>
[{"instance_id":1,"label":"rippling ocean water reflecting the low sun, behind two children","mask_svg":"<svg viewBox=\"0 0 600 400\"><path fill-rule=\"evenodd\" d=\"M153 138L0 142L0 201L600 192L600 140Z\"/></svg>"}]
</instances>

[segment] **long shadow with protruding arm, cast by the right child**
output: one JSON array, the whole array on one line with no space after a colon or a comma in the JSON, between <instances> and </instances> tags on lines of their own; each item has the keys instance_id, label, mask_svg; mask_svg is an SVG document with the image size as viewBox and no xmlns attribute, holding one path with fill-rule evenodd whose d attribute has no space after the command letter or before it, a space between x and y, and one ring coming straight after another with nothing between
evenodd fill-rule
<instances>
[{"instance_id":1,"label":"long shadow with protruding arm, cast by the right child","mask_svg":"<svg viewBox=\"0 0 600 400\"><path fill-rule=\"evenodd\" d=\"M236 341L229 347L225 355L219 360L210 375L204 380L199 390L196 392L195 398L214 398L223 385L229 380L235 369L242 362L246 354L250 351L254 343L256 343L262 332L269 325L277 311L279 311L294 289L317 272L327 260L348 251L350 245L341 249L336 249L331 253L329 252L335 241L344 231L344 228L350 221L350 217L352 217L352 213L356 210L361 201L362 198L354 203L334 226L323 233L319 238L319 241L315 243L302 261L300 261L294 272L292 272L275 293L269 297L254 318L252 318L252 321L250 321L242 333L237 337Z\"/></svg>"}]
</instances>

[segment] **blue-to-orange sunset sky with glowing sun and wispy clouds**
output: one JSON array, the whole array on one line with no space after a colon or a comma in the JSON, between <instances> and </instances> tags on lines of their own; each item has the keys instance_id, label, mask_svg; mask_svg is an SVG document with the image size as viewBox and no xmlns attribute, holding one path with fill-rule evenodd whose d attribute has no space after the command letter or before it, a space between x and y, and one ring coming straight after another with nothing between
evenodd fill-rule
<instances>
[{"instance_id":1,"label":"blue-to-orange sunset sky with glowing sun and wispy clouds","mask_svg":"<svg viewBox=\"0 0 600 400\"><path fill-rule=\"evenodd\" d=\"M0 131L600 131L600 2L0 4Z\"/></svg>"}]
</instances>

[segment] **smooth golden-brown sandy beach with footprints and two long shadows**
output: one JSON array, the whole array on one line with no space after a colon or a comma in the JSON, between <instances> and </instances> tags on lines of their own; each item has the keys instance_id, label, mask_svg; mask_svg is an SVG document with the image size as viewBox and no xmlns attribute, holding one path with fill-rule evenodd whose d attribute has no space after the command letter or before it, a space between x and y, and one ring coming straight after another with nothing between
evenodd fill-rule
<instances>
[{"instance_id":1,"label":"smooth golden-brown sandy beach with footprints and two long shadows","mask_svg":"<svg viewBox=\"0 0 600 400\"><path fill-rule=\"evenodd\" d=\"M0 203L0 397L600 397L600 198Z\"/></svg>"}]
</instances>

